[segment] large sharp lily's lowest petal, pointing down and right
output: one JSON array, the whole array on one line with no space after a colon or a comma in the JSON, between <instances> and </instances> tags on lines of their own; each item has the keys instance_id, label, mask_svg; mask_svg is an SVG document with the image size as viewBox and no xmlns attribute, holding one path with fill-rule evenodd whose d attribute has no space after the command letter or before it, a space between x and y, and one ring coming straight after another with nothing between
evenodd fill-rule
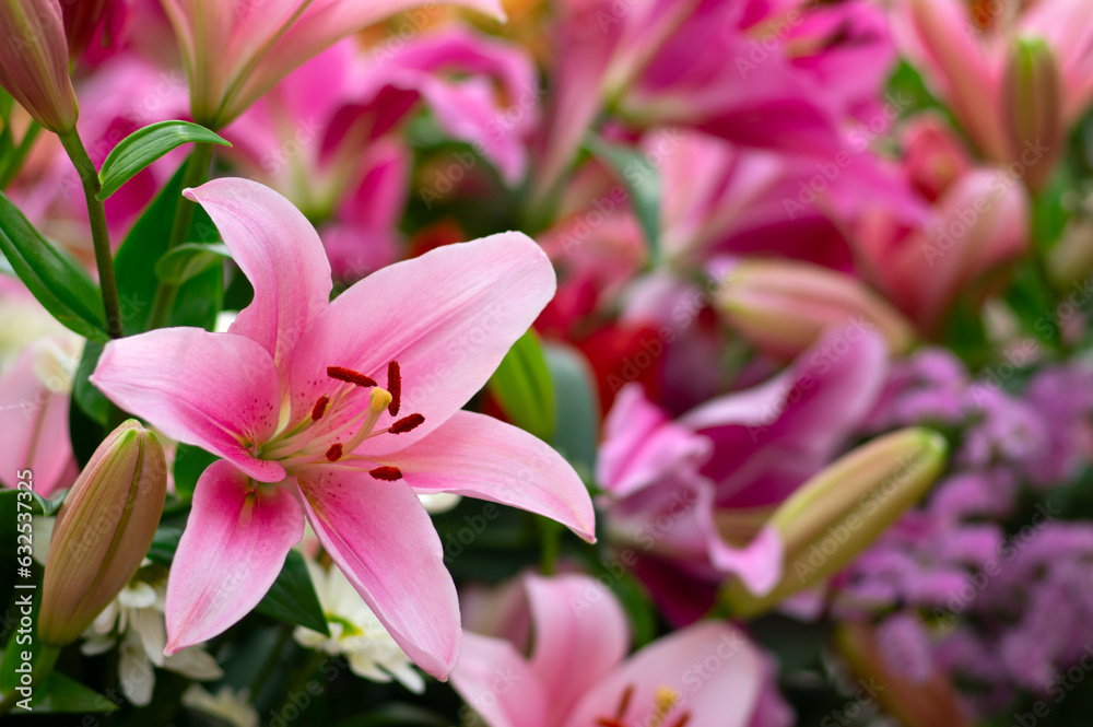
<instances>
[{"instance_id":1,"label":"large sharp lily's lowest petal, pointing down and right","mask_svg":"<svg viewBox=\"0 0 1093 727\"><path fill-rule=\"evenodd\" d=\"M361 472L301 478L319 542L413 661L446 679L459 650L459 599L433 521L401 482Z\"/></svg>"}]
</instances>

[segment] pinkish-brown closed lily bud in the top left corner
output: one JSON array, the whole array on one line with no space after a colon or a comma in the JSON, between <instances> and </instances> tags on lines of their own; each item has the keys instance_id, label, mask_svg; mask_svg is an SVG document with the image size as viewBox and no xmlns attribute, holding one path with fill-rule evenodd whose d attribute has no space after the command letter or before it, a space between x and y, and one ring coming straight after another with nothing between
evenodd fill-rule
<instances>
[{"instance_id":1,"label":"pinkish-brown closed lily bud in the top left corner","mask_svg":"<svg viewBox=\"0 0 1093 727\"><path fill-rule=\"evenodd\" d=\"M71 131L80 114L58 0L3 0L0 36L0 85L43 128Z\"/></svg>"}]
</instances>

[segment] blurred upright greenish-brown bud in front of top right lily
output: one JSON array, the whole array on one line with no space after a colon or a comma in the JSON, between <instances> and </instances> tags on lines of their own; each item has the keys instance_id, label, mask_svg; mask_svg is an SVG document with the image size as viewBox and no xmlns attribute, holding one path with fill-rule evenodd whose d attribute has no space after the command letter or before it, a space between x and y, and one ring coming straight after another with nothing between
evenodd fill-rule
<instances>
[{"instance_id":1,"label":"blurred upright greenish-brown bud in front of top right lily","mask_svg":"<svg viewBox=\"0 0 1093 727\"><path fill-rule=\"evenodd\" d=\"M1018 38L1002 80L1002 117L1012 157L1025 167L1025 185L1041 189L1065 144L1062 77L1051 48Z\"/></svg>"}]
</instances>

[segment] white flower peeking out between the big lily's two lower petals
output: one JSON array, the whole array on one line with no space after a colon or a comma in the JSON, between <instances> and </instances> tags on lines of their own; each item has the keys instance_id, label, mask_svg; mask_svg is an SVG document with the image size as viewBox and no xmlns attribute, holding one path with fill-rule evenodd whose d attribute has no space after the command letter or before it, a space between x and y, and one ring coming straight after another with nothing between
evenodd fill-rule
<instances>
[{"instance_id":1,"label":"white flower peeking out between the big lily's two lower petals","mask_svg":"<svg viewBox=\"0 0 1093 727\"><path fill-rule=\"evenodd\" d=\"M293 633L296 641L307 648L343 655L359 677L381 682L393 677L412 692L424 691L425 681L414 670L410 657L395 643L344 574L337 567L326 570L312 559L306 561L330 636L297 626Z\"/></svg>"}]
</instances>

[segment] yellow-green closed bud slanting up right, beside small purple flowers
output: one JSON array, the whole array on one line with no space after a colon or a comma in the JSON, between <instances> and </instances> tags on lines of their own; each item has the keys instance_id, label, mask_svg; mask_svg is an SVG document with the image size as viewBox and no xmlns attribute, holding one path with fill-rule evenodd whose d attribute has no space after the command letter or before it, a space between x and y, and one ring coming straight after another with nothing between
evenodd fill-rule
<instances>
[{"instance_id":1,"label":"yellow-green closed bud slanting up right, beside small purple flowers","mask_svg":"<svg viewBox=\"0 0 1093 727\"><path fill-rule=\"evenodd\" d=\"M861 445L802 484L771 516L785 546L781 582L755 597L732 582L725 597L749 618L820 584L917 502L941 473L948 445L937 432L910 427Z\"/></svg>"}]
</instances>

